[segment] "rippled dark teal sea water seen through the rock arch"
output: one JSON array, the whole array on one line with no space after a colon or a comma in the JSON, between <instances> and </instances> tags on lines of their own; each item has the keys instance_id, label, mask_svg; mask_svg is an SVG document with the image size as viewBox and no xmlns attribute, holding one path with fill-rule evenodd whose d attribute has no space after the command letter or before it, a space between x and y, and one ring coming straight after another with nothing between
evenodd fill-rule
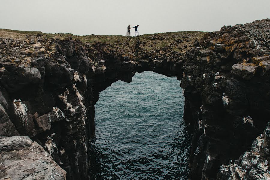
<instances>
[{"instance_id":1,"label":"rippled dark teal sea water seen through the rock arch","mask_svg":"<svg viewBox=\"0 0 270 180\"><path fill-rule=\"evenodd\" d=\"M180 81L149 71L102 91L90 142L91 179L187 179L183 108Z\"/></svg>"}]
</instances>

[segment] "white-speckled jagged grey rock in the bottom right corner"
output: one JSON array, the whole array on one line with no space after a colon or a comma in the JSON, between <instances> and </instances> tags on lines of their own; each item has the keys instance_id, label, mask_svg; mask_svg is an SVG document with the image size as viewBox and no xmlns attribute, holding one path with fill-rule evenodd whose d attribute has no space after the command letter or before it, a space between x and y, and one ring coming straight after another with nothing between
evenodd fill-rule
<instances>
[{"instance_id":1,"label":"white-speckled jagged grey rock in the bottom right corner","mask_svg":"<svg viewBox=\"0 0 270 180\"><path fill-rule=\"evenodd\" d=\"M252 143L250 151L244 152L238 160L230 160L229 165L220 166L217 180L270 179L269 148L270 122L263 134Z\"/></svg>"}]
</instances>

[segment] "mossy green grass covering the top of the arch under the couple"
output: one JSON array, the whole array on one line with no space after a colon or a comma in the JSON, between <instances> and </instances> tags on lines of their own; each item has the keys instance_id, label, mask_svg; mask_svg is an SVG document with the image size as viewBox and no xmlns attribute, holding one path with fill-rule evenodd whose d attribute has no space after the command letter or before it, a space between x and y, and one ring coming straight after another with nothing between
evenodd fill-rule
<instances>
[{"instance_id":1,"label":"mossy green grass covering the top of the arch under the couple","mask_svg":"<svg viewBox=\"0 0 270 180\"><path fill-rule=\"evenodd\" d=\"M33 36L40 34L43 38L47 39L66 39L72 37L73 40L80 40L83 43L100 44L114 49L127 49L127 47L135 48L137 41L140 41L140 48L146 51L159 51L165 48L169 48L172 51L183 52L186 46L191 46L196 38L202 38L206 32L199 31L184 31L184 32L166 32L158 34L145 34L137 37L125 37L121 35L85 35L77 36L70 33L57 33L47 34L38 31L17 31L10 29L0 29L0 38L13 38L13 39L26 39L27 36ZM27 36L26 36L27 35ZM189 39L182 38L188 36ZM162 39L154 39L163 37ZM30 38L30 37L28 37ZM182 40L182 43L179 43Z\"/></svg>"}]
</instances>

